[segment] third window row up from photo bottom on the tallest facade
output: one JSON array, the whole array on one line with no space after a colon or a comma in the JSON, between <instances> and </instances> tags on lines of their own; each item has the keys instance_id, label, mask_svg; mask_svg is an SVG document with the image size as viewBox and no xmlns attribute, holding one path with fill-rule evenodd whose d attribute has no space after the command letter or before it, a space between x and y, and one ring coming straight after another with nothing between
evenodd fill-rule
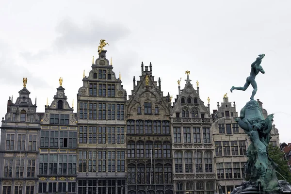
<instances>
[{"instance_id":1,"label":"third window row up from photo bottom on the tallest facade","mask_svg":"<svg viewBox=\"0 0 291 194\"><path fill-rule=\"evenodd\" d=\"M80 144L124 144L124 127L80 126Z\"/></svg>"}]
</instances>

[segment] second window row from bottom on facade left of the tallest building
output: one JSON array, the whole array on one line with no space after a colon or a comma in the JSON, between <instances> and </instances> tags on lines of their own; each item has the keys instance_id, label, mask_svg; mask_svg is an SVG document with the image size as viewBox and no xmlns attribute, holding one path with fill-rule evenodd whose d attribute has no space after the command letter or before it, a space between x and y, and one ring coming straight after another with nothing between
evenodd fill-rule
<instances>
[{"instance_id":1,"label":"second window row from bottom on facade left of the tallest building","mask_svg":"<svg viewBox=\"0 0 291 194\"><path fill-rule=\"evenodd\" d=\"M76 175L77 156L65 154L40 154L40 175Z\"/></svg>"}]
</instances>

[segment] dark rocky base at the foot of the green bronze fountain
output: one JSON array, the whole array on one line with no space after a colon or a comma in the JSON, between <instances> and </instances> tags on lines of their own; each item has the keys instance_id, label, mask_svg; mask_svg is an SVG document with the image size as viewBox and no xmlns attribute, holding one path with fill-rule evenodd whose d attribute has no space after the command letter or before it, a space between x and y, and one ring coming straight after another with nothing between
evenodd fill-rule
<instances>
[{"instance_id":1,"label":"dark rocky base at the foot of the green bronze fountain","mask_svg":"<svg viewBox=\"0 0 291 194\"><path fill-rule=\"evenodd\" d=\"M285 180L279 180L279 186L272 192L264 192L256 186L256 182L245 181L240 187L235 188L231 194L290 194L291 185Z\"/></svg>"}]
</instances>

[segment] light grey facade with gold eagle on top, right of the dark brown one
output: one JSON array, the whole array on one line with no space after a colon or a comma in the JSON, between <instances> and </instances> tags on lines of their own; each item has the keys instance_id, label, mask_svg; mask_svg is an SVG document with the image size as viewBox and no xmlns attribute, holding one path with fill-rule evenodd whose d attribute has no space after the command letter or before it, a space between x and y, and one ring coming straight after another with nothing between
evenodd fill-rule
<instances>
[{"instance_id":1,"label":"light grey facade with gold eagle on top, right of the dark brown one","mask_svg":"<svg viewBox=\"0 0 291 194\"><path fill-rule=\"evenodd\" d=\"M214 194L214 146L210 105L204 105L187 75L171 115L175 194Z\"/></svg>"}]
</instances>

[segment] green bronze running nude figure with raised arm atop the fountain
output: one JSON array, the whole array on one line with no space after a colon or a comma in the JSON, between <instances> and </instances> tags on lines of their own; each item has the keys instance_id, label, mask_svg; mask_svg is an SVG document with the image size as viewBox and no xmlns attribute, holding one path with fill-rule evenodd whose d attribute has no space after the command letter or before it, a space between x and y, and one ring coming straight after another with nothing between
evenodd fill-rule
<instances>
[{"instance_id":1,"label":"green bronze running nude figure with raised arm atop the fountain","mask_svg":"<svg viewBox=\"0 0 291 194\"><path fill-rule=\"evenodd\" d=\"M254 96L256 95L257 90L258 90L257 82L255 80L256 76L259 74L259 72L261 72L262 74L265 73L264 69L260 65L264 56L265 56L265 54L260 54L259 57L256 59L256 61L254 63L252 63L252 65L251 65L252 69L251 69L250 76L246 78L246 82L245 82L244 86L243 87L232 86L230 89L230 92L232 92L233 90L245 91L248 88L248 86L251 84L253 86L254 90L252 92L252 96L250 97L250 99L251 100L254 99Z\"/></svg>"}]
</instances>

